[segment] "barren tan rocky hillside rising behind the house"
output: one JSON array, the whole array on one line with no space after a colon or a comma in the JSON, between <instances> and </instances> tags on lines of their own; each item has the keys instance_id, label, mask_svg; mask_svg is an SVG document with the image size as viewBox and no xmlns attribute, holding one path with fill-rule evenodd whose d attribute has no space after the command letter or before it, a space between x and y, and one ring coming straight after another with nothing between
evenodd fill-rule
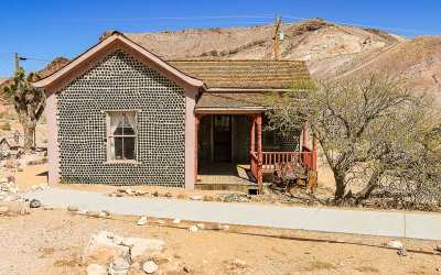
<instances>
[{"instance_id":1,"label":"barren tan rocky hillside rising behind the house","mask_svg":"<svg viewBox=\"0 0 441 275\"><path fill-rule=\"evenodd\" d=\"M282 30L280 59L305 61L315 78L368 72L395 75L441 102L441 36L406 38L322 19L282 24ZM272 24L126 35L164 59L268 59L275 52Z\"/></svg>"}]
</instances>

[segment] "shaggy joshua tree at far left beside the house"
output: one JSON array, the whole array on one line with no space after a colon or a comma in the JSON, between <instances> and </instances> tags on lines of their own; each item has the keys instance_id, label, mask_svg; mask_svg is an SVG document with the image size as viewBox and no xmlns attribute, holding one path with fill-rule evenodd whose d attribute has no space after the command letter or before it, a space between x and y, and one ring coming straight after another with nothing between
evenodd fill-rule
<instances>
[{"instance_id":1,"label":"shaggy joshua tree at far left beside the house","mask_svg":"<svg viewBox=\"0 0 441 275\"><path fill-rule=\"evenodd\" d=\"M20 67L11 82L3 87L7 97L11 98L24 132L24 151L32 147L33 134L36 123L44 111L45 95L41 88L32 86L32 81L41 78L39 73L29 73Z\"/></svg>"}]
</instances>

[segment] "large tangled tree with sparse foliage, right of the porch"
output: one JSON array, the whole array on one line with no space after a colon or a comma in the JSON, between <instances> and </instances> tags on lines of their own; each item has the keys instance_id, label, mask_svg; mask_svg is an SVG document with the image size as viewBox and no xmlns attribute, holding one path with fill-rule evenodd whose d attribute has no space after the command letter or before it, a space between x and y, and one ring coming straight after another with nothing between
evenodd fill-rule
<instances>
[{"instance_id":1,"label":"large tangled tree with sparse foliage, right of the porch","mask_svg":"<svg viewBox=\"0 0 441 275\"><path fill-rule=\"evenodd\" d=\"M379 187L418 189L441 175L433 100L390 78L308 81L282 96L272 92L267 105L272 127L288 131L306 123L313 130L334 174L335 200L354 182L364 188L349 196L365 199Z\"/></svg>"}]
</instances>

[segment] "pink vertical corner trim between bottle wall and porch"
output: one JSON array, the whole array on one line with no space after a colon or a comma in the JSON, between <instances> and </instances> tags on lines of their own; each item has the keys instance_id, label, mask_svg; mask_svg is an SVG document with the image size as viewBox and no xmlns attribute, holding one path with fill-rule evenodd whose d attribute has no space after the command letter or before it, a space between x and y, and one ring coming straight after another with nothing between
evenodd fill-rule
<instances>
[{"instance_id":1,"label":"pink vertical corner trim between bottle wall and porch","mask_svg":"<svg viewBox=\"0 0 441 275\"><path fill-rule=\"evenodd\" d=\"M185 189L194 189L195 178L195 116L197 89L185 90Z\"/></svg>"}]
</instances>

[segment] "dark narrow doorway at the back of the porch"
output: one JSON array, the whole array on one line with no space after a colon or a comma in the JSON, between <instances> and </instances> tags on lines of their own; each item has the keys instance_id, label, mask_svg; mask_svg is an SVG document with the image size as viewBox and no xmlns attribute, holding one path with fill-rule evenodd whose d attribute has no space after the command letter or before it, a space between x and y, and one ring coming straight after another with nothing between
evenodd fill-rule
<instances>
[{"instance_id":1,"label":"dark narrow doorway at the back of the porch","mask_svg":"<svg viewBox=\"0 0 441 275\"><path fill-rule=\"evenodd\" d=\"M215 114L213 119L213 158L232 162L232 116Z\"/></svg>"}]
</instances>

